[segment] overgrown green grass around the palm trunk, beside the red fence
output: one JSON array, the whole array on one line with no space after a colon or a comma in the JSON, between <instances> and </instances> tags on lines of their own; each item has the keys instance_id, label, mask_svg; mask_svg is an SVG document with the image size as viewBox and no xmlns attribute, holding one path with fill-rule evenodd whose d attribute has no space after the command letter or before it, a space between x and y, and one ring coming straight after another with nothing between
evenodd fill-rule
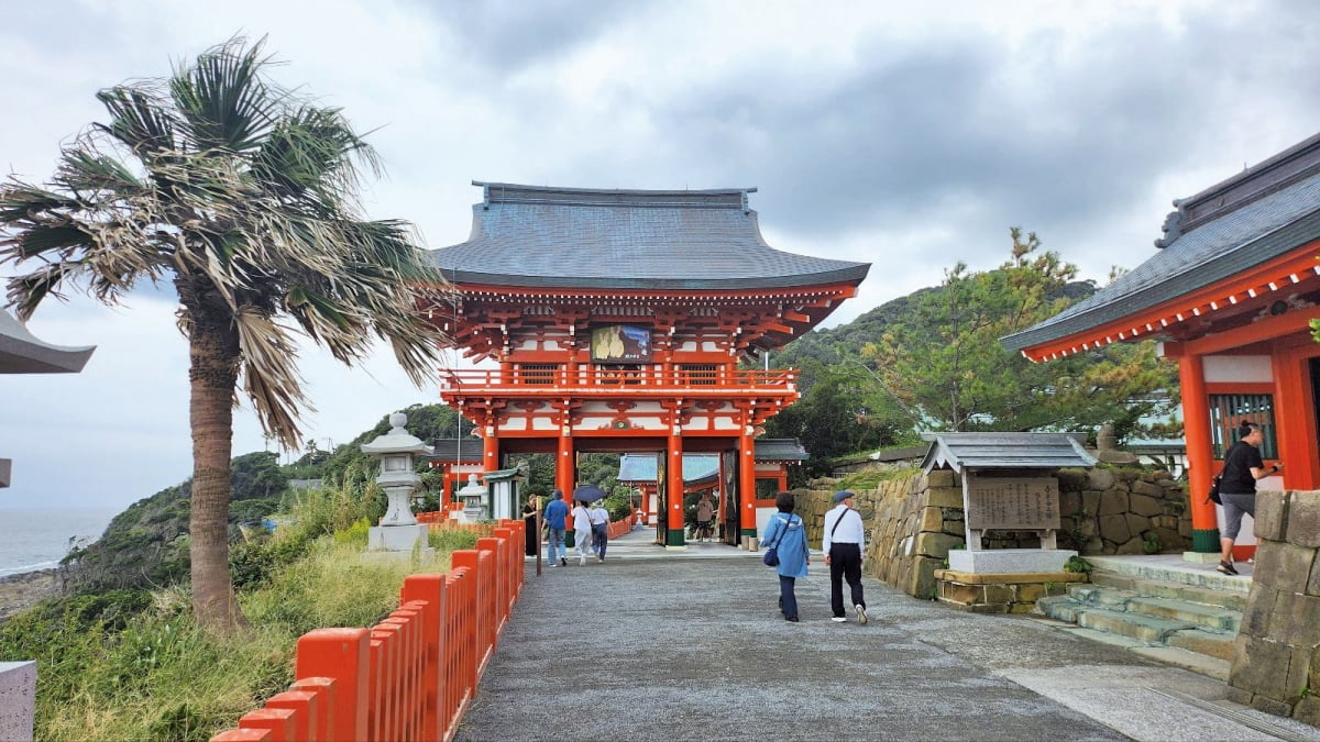
<instances>
[{"instance_id":1,"label":"overgrown green grass around the palm trunk, beside the red fence","mask_svg":"<svg viewBox=\"0 0 1320 742\"><path fill-rule=\"evenodd\" d=\"M473 537L475 540L475 536ZM293 680L298 636L371 626L399 605L404 577L433 564L363 561L321 537L239 602L251 630L203 634L186 588L54 599L0 624L0 659L36 659L38 739L209 739Z\"/></svg>"}]
</instances>

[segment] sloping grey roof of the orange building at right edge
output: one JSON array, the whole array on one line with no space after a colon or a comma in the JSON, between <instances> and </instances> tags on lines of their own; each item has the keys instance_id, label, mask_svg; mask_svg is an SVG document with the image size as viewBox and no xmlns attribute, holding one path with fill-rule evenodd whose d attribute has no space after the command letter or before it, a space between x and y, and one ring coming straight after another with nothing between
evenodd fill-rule
<instances>
[{"instance_id":1,"label":"sloping grey roof of the orange building at right edge","mask_svg":"<svg viewBox=\"0 0 1320 742\"><path fill-rule=\"evenodd\" d=\"M1142 314L1320 239L1320 135L1173 202L1148 260L1059 314L1002 338L1031 349Z\"/></svg>"}]
</instances>

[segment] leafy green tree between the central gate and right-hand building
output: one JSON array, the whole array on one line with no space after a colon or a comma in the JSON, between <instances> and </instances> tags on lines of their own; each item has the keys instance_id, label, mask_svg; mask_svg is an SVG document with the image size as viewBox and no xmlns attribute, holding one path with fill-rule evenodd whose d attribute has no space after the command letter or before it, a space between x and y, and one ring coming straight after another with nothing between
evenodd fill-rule
<instances>
[{"instance_id":1,"label":"leafy green tree between the central gate and right-hand building","mask_svg":"<svg viewBox=\"0 0 1320 742\"><path fill-rule=\"evenodd\" d=\"M1067 308L1077 269L1010 231L1007 263L972 272L957 264L937 290L862 347L879 386L919 428L1035 430L1114 421L1125 432L1176 404L1177 368L1154 345L1115 343L1034 364L999 338Z\"/></svg>"}]
</instances>

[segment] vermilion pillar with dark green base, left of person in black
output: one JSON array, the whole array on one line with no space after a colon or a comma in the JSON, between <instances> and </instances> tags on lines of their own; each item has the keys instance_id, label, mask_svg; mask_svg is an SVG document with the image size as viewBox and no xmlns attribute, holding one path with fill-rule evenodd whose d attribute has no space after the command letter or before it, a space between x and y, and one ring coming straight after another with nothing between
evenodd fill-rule
<instances>
[{"instance_id":1,"label":"vermilion pillar with dark green base, left of person in black","mask_svg":"<svg viewBox=\"0 0 1320 742\"><path fill-rule=\"evenodd\" d=\"M1192 551L1220 552L1220 524L1214 503L1208 500L1210 479L1218 474L1210 445L1210 408L1205 393L1205 374L1201 356L1183 355L1177 359L1177 375L1183 386L1183 434L1187 438L1187 486L1192 504Z\"/></svg>"}]
</instances>

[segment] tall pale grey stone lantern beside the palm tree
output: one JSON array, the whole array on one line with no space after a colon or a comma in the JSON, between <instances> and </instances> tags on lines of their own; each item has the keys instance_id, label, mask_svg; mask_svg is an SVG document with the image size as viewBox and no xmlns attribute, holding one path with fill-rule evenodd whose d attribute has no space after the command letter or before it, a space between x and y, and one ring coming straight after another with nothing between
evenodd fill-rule
<instances>
[{"instance_id":1,"label":"tall pale grey stone lantern beside the palm tree","mask_svg":"<svg viewBox=\"0 0 1320 742\"><path fill-rule=\"evenodd\" d=\"M413 518L409 498L421 486L421 478L413 470L413 457L432 453L430 446L411 434L404 425L408 416L396 412L389 416L391 429L375 441L362 445L362 453L380 458L380 475L376 483L385 491L388 507L380 525L370 529L368 548L385 552L412 552L418 543L426 549L425 524Z\"/></svg>"}]
</instances>

